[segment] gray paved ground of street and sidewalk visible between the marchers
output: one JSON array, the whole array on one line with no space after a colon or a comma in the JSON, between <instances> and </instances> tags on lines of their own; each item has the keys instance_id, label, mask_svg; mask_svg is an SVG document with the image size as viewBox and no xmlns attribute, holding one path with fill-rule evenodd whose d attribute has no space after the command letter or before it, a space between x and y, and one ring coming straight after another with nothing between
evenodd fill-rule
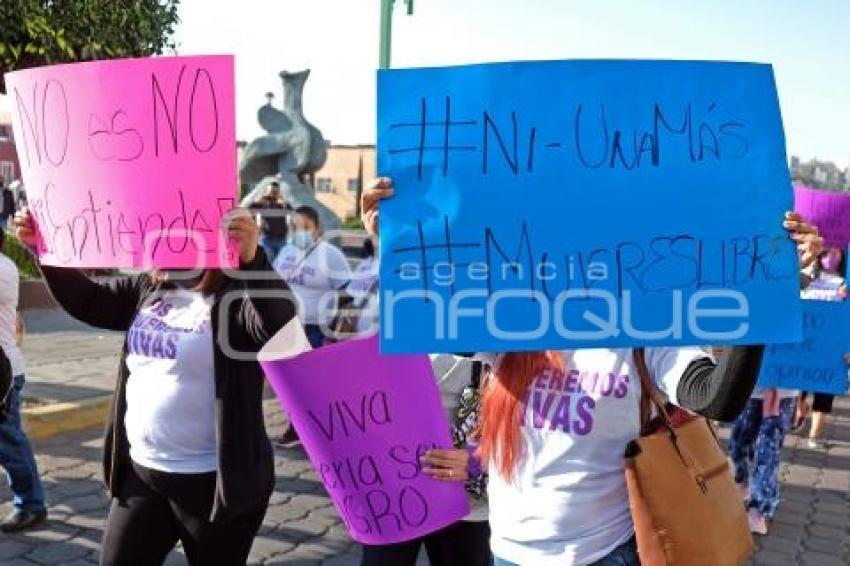
<instances>
[{"instance_id":1,"label":"gray paved ground of street and sidewalk visible between the marchers","mask_svg":"<svg viewBox=\"0 0 850 566\"><path fill-rule=\"evenodd\" d=\"M120 336L86 328L57 312L31 311L27 318L28 395L73 400L111 391ZM286 423L273 400L266 403L266 422L272 435ZM850 564L850 400L836 402L827 436L830 444L817 450L796 435L787 438L782 503L770 534L758 540L752 564ZM59 435L35 446L50 521L24 534L0 534L0 564L96 564L108 505L99 479L100 429ZM278 450L275 467L275 492L250 563L358 564L358 547L345 533L304 452ZM10 510L9 499L8 489L0 488L0 514ZM179 549L168 564L185 564Z\"/></svg>"}]
</instances>

